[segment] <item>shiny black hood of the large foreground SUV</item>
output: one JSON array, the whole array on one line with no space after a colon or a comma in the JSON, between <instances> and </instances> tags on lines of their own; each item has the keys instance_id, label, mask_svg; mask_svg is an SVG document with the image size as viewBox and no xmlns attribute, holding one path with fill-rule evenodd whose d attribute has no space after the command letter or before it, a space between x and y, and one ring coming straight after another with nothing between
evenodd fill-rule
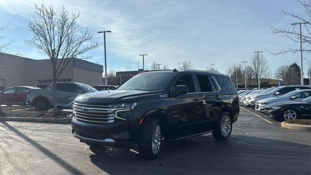
<instances>
[{"instance_id":1,"label":"shiny black hood of the large foreground SUV","mask_svg":"<svg viewBox=\"0 0 311 175\"><path fill-rule=\"evenodd\" d=\"M138 96L154 94L142 90L103 90L79 95L75 101L94 104L132 103L138 101Z\"/></svg>"}]
</instances>

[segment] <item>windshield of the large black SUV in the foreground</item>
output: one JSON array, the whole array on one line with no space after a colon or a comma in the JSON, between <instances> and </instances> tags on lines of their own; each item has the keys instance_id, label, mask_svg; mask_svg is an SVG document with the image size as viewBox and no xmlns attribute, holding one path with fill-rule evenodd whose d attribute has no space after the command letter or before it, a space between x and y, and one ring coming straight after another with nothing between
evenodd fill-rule
<instances>
[{"instance_id":1,"label":"windshield of the large black SUV in the foreground","mask_svg":"<svg viewBox=\"0 0 311 175\"><path fill-rule=\"evenodd\" d=\"M146 73L138 74L129 79L118 90L135 89L155 91L164 89L173 79L173 73Z\"/></svg>"}]
</instances>

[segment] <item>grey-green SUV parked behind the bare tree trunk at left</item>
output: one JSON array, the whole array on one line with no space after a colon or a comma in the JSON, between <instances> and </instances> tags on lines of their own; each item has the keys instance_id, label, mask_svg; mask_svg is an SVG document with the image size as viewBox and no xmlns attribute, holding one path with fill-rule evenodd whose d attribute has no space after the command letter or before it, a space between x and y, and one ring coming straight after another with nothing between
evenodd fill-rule
<instances>
[{"instance_id":1,"label":"grey-green SUV parked behind the bare tree trunk at left","mask_svg":"<svg viewBox=\"0 0 311 175\"><path fill-rule=\"evenodd\" d=\"M53 84L48 88L30 89L27 94L27 105L35 106L38 111L48 110L53 107ZM81 94L98 92L98 90L83 84L74 82L62 82L56 85L57 108L72 108L74 99Z\"/></svg>"}]
</instances>

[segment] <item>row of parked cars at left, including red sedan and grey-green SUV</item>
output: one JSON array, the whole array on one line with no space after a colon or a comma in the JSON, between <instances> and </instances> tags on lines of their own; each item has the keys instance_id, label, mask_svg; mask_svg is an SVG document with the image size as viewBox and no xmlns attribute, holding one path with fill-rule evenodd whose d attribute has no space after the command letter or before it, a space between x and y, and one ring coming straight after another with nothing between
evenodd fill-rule
<instances>
[{"instance_id":1,"label":"row of parked cars at left, including red sedan and grey-green SUV","mask_svg":"<svg viewBox=\"0 0 311 175\"><path fill-rule=\"evenodd\" d=\"M113 90L116 86L95 85L94 88L74 82L57 83L57 107L71 108L72 101L80 94L98 90ZM34 87L20 86L7 88L0 92L0 105L30 105L37 110L48 110L53 107L52 84L39 84Z\"/></svg>"}]
</instances>

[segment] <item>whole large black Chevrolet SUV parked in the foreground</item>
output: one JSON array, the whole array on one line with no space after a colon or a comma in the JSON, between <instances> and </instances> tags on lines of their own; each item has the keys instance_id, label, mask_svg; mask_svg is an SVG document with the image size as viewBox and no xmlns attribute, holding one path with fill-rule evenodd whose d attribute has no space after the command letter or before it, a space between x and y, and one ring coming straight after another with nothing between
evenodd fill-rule
<instances>
[{"instance_id":1,"label":"whole large black Chevrolet SUV parked in the foreground","mask_svg":"<svg viewBox=\"0 0 311 175\"><path fill-rule=\"evenodd\" d=\"M152 159L162 138L181 140L212 133L226 140L240 112L228 76L207 71L140 73L116 90L75 99L72 134L89 146L134 148Z\"/></svg>"}]
</instances>

